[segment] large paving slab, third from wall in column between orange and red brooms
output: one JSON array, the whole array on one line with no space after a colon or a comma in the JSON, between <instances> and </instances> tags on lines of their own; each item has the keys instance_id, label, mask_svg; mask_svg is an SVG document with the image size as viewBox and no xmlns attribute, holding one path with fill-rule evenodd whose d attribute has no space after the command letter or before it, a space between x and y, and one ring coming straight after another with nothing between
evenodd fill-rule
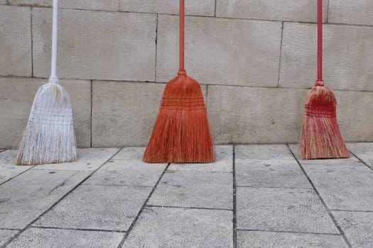
<instances>
[{"instance_id":1,"label":"large paving slab, third from wall in column between orange and red brooms","mask_svg":"<svg viewBox=\"0 0 373 248\"><path fill-rule=\"evenodd\" d=\"M315 191L237 188L237 228L339 234Z\"/></svg>"}]
</instances>

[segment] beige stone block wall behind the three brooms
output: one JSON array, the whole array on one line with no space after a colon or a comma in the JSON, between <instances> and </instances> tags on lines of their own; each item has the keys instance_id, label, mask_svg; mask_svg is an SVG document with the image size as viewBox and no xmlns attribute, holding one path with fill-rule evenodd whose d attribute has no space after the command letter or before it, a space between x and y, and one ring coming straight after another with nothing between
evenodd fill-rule
<instances>
[{"instance_id":1,"label":"beige stone block wall behind the three brooms","mask_svg":"<svg viewBox=\"0 0 373 248\"><path fill-rule=\"evenodd\" d=\"M186 69L216 144L297 142L316 0L185 0ZM50 74L51 0L0 0L0 148ZM178 70L177 0L60 0L58 77L80 147L143 146ZM373 141L373 1L325 1L325 84L346 141Z\"/></svg>"}]
</instances>

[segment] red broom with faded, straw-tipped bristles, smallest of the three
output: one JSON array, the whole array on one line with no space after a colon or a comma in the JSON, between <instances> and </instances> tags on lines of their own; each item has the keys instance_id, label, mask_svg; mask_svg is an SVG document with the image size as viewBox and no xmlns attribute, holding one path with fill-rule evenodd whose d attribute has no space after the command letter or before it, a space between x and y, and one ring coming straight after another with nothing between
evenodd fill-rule
<instances>
[{"instance_id":1,"label":"red broom with faded, straw-tipped bristles, smallest of the three","mask_svg":"<svg viewBox=\"0 0 373 248\"><path fill-rule=\"evenodd\" d=\"M301 159L350 157L337 123L337 102L323 81L323 1L318 0L318 79L306 97Z\"/></svg>"}]
</instances>

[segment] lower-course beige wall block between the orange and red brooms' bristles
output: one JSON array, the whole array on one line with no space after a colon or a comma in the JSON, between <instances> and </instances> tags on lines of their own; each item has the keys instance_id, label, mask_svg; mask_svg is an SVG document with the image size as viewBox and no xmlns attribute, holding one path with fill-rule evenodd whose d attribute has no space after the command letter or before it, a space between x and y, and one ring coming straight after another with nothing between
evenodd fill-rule
<instances>
[{"instance_id":1,"label":"lower-course beige wall block between the orange and red brooms' bristles","mask_svg":"<svg viewBox=\"0 0 373 248\"><path fill-rule=\"evenodd\" d=\"M301 89L208 86L207 113L215 143L298 141L305 96ZM289 152L286 156L291 158Z\"/></svg>"}]
</instances>

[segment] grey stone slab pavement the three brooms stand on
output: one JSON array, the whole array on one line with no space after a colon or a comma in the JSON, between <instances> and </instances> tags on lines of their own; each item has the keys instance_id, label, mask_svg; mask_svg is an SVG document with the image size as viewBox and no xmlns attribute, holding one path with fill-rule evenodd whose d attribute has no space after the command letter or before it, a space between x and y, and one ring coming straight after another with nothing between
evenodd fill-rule
<instances>
[{"instance_id":1,"label":"grey stone slab pavement the three brooms stand on","mask_svg":"<svg viewBox=\"0 0 373 248\"><path fill-rule=\"evenodd\" d=\"M371 248L373 143L348 147L306 161L297 145L222 145L214 164L89 148L35 167L0 151L0 247Z\"/></svg>"}]
</instances>

